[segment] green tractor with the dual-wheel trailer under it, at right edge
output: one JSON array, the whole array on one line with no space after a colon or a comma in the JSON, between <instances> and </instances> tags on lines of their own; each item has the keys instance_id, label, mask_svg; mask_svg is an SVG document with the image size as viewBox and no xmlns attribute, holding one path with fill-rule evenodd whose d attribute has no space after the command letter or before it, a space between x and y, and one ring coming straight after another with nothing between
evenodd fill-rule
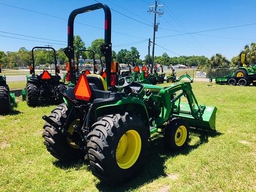
<instances>
[{"instance_id":1,"label":"green tractor with the dual-wheel trailer under it, at right edge","mask_svg":"<svg viewBox=\"0 0 256 192\"><path fill-rule=\"evenodd\" d=\"M240 85L240 86L248 86L252 84L256 86L256 64L248 64L246 60L246 53L241 52L239 55L240 59L240 68L238 68L235 72L232 72L226 76L211 77L209 79L212 82L212 79L215 79L216 84L228 84L228 85Z\"/></svg>"}]
</instances>

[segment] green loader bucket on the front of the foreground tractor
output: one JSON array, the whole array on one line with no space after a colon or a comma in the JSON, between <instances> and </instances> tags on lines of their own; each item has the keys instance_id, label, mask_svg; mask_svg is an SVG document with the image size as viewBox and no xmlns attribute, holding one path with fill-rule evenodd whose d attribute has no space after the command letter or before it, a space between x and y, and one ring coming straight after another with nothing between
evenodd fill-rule
<instances>
[{"instance_id":1,"label":"green loader bucket on the front of the foreground tractor","mask_svg":"<svg viewBox=\"0 0 256 192\"><path fill-rule=\"evenodd\" d=\"M191 115L189 105L187 103L180 103L179 114L174 114L174 117L179 117L186 120L189 127L200 128L204 130L216 131L216 107L205 106L204 114L202 119L195 119Z\"/></svg>"}]
</instances>

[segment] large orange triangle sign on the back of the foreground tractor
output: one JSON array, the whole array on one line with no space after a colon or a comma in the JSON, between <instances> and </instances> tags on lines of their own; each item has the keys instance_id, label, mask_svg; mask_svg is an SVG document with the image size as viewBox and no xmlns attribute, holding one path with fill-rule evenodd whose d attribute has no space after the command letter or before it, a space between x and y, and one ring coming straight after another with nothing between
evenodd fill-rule
<instances>
[{"instance_id":1,"label":"large orange triangle sign on the back of the foreground tractor","mask_svg":"<svg viewBox=\"0 0 256 192\"><path fill-rule=\"evenodd\" d=\"M75 88L76 99L90 100L92 92L85 74L80 75Z\"/></svg>"}]
</instances>

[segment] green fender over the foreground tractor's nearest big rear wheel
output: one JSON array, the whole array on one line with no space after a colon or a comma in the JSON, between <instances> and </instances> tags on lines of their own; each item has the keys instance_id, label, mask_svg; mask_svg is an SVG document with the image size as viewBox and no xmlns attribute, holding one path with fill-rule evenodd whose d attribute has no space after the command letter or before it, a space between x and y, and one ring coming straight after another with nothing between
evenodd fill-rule
<instances>
[{"instance_id":1,"label":"green fender over the foreground tractor's nearest big rear wheel","mask_svg":"<svg viewBox=\"0 0 256 192\"><path fill-rule=\"evenodd\" d=\"M116 103L107 104L96 108L95 119L100 116L122 112L132 112L140 115L142 119L146 120L146 124L149 126L148 112L145 104L139 98L132 96L124 97L121 100L116 101Z\"/></svg>"}]
</instances>

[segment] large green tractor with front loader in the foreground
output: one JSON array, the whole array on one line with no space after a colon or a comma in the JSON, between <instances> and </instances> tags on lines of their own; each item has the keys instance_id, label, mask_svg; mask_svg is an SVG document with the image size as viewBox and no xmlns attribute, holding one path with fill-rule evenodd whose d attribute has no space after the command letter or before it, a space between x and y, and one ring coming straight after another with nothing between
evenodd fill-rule
<instances>
[{"instance_id":1,"label":"large green tractor with front loader in the foreground","mask_svg":"<svg viewBox=\"0 0 256 192\"><path fill-rule=\"evenodd\" d=\"M99 75L81 74L76 80L74 20L78 14L103 8L107 84ZM216 107L199 105L190 83L169 87L135 82L132 76L118 80L118 64L112 62L111 12L105 4L93 4L71 12L68 19L71 83L62 93L64 103L43 116L44 145L60 161L84 158L92 174L108 184L130 180L146 162L153 133L164 134L164 144L179 150L188 143L189 130L216 131ZM181 99L187 102L181 102Z\"/></svg>"}]
</instances>

